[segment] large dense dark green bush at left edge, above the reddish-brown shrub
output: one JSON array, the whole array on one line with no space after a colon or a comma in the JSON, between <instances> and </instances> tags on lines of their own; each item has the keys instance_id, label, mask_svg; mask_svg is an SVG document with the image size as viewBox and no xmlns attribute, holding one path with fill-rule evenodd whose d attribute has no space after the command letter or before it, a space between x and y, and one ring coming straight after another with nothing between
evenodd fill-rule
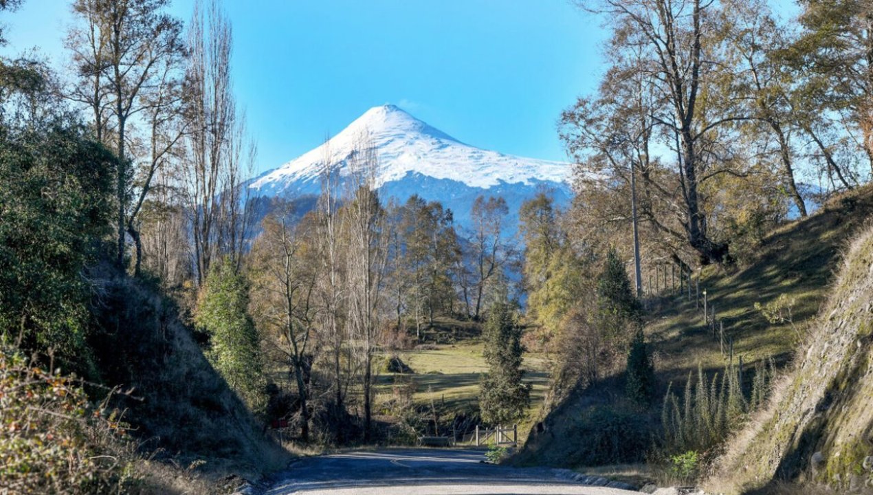
<instances>
[{"instance_id":1,"label":"large dense dark green bush at left edge, above the reddish-brown shrub","mask_svg":"<svg viewBox=\"0 0 873 495\"><path fill-rule=\"evenodd\" d=\"M26 128L0 125L0 335L95 378L85 340L100 291L86 267L110 224L115 158L65 119Z\"/></svg>"}]
</instances>

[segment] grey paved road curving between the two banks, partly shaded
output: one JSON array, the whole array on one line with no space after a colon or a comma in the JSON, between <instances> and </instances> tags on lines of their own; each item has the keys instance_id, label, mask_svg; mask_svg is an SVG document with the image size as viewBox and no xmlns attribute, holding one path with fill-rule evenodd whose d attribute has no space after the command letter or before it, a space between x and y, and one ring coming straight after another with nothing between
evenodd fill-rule
<instances>
[{"instance_id":1,"label":"grey paved road curving between the two banks, partly shaded","mask_svg":"<svg viewBox=\"0 0 873 495\"><path fill-rule=\"evenodd\" d=\"M306 457L267 495L633 495L585 486L546 468L483 464L482 450L397 449Z\"/></svg>"}]
</instances>

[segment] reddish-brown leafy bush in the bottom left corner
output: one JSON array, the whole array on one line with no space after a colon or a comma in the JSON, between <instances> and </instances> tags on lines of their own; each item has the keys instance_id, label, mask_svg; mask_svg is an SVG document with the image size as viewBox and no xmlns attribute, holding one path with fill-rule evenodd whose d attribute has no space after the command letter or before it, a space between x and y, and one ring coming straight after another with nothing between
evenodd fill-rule
<instances>
[{"instance_id":1,"label":"reddish-brown leafy bush in the bottom left corner","mask_svg":"<svg viewBox=\"0 0 873 495\"><path fill-rule=\"evenodd\" d=\"M0 492L127 492L138 483L118 411L68 376L0 350Z\"/></svg>"}]
</instances>

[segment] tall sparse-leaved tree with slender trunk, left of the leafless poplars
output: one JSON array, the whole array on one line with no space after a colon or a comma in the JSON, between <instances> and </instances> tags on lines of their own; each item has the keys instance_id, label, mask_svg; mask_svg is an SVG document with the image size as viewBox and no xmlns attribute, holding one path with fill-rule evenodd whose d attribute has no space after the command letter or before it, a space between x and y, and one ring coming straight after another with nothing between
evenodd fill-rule
<instances>
[{"instance_id":1,"label":"tall sparse-leaved tree with slender trunk, left of the leafless poplars","mask_svg":"<svg viewBox=\"0 0 873 495\"><path fill-rule=\"evenodd\" d=\"M95 134L107 143L113 141L118 155L119 266L124 263L127 227L133 228L141 207L137 202L134 213L127 216L134 176L131 164L137 158L128 154L128 126L138 113L150 111L154 115L163 112L155 111L156 105L171 105L172 99L155 98L155 93L167 89L173 79L170 74L184 53L182 23L162 13L167 4L168 0L77 0L73 12L82 25L73 29L66 41L79 78L70 97L90 108ZM111 136L107 132L110 128ZM147 175L149 181L153 175ZM148 185L140 184L144 190L141 196L148 194Z\"/></svg>"}]
</instances>

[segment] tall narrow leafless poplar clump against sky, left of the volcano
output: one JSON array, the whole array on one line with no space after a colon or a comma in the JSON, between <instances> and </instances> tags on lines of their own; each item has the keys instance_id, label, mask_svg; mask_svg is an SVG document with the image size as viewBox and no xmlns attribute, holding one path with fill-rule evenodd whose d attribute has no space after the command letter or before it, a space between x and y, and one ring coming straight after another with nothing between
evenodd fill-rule
<instances>
[{"instance_id":1,"label":"tall narrow leafless poplar clump against sky, left of the volcano","mask_svg":"<svg viewBox=\"0 0 873 495\"><path fill-rule=\"evenodd\" d=\"M185 81L184 178L198 284L219 253L229 255L238 270L251 223L243 174L244 160L251 170L255 151L245 145L244 118L232 91L231 48L230 21L217 1L206 12L196 3Z\"/></svg>"}]
</instances>

